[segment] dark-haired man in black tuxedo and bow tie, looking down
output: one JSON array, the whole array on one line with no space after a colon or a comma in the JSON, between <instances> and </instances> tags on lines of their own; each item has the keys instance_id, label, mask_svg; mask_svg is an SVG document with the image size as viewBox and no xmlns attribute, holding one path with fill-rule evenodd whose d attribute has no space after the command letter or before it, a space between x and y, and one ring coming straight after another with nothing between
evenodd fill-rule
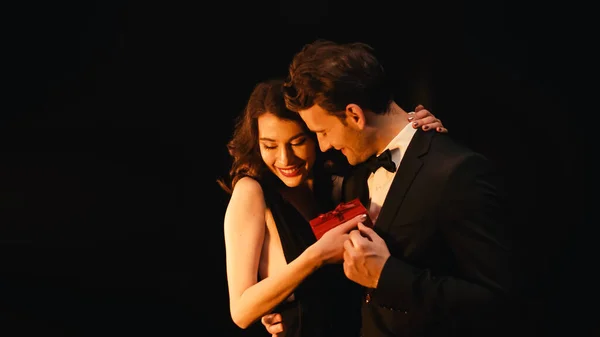
<instances>
[{"instance_id":1,"label":"dark-haired man in black tuxedo and bow tie, looking down","mask_svg":"<svg viewBox=\"0 0 600 337\"><path fill-rule=\"evenodd\" d=\"M362 335L500 334L511 250L486 158L414 129L362 43L306 45L290 65L286 105L316 132L321 151L340 150L354 166L342 198L360 197L375 223L344 244L344 272L365 289ZM278 317L262 319L272 334L285 329Z\"/></svg>"}]
</instances>

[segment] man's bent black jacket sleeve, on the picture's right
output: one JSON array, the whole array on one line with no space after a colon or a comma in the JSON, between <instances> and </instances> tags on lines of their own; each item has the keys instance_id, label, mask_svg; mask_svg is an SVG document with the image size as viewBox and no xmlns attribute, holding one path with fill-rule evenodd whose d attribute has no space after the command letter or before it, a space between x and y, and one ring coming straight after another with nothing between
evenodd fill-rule
<instances>
[{"instance_id":1,"label":"man's bent black jacket sleeve, on the picture's right","mask_svg":"<svg viewBox=\"0 0 600 337\"><path fill-rule=\"evenodd\" d=\"M473 318L504 298L511 288L511 249L502 193L488 164L479 155L465 156L442 189L437 226L454 270L423 269L391 256L371 293L376 303Z\"/></svg>"}]
</instances>

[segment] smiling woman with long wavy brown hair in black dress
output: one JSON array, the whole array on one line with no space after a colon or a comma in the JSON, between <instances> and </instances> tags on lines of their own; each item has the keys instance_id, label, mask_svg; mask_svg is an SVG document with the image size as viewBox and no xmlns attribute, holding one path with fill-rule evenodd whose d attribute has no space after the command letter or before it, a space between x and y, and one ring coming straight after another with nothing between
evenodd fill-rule
<instances>
[{"instance_id":1,"label":"smiling woman with long wavy brown hair in black dress","mask_svg":"<svg viewBox=\"0 0 600 337\"><path fill-rule=\"evenodd\" d=\"M337 263L343 241L327 234L316 241L308 224L335 207L332 176L343 156L318 149L315 135L286 109L282 85L254 88L228 143L228 182L219 181L231 193L224 219L231 317L245 329L275 309L286 336L358 336L360 288ZM426 110L415 121L446 132Z\"/></svg>"}]
</instances>

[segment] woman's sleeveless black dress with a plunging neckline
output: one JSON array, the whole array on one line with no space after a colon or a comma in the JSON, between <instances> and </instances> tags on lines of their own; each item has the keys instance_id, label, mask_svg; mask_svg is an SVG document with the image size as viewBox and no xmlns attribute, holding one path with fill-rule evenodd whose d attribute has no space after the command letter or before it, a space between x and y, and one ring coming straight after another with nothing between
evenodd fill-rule
<instances>
[{"instance_id":1,"label":"woman's sleeveless black dress with a plunging neckline","mask_svg":"<svg viewBox=\"0 0 600 337\"><path fill-rule=\"evenodd\" d=\"M281 195L265 189L265 201L279 231L285 259L296 259L316 241L310 224ZM357 337L360 333L361 287L348 280L342 264L328 264L294 291L294 301L280 304L286 337Z\"/></svg>"}]
</instances>

